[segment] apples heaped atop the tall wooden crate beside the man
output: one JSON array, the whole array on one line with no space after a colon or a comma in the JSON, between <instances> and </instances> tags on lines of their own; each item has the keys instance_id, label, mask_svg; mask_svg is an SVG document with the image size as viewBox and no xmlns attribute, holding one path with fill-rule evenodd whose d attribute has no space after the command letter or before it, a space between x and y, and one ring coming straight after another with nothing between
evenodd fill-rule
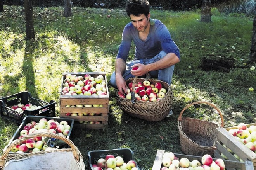
<instances>
[{"instance_id":1,"label":"apples heaped atop the tall wooden crate beside the man","mask_svg":"<svg viewBox=\"0 0 256 170\"><path fill-rule=\"evenodd\" d=\"M62 95L107 95L103 75L94 78L90 74L84 76L67 74L62 87Z\"/></svg>"}]
</instances>

